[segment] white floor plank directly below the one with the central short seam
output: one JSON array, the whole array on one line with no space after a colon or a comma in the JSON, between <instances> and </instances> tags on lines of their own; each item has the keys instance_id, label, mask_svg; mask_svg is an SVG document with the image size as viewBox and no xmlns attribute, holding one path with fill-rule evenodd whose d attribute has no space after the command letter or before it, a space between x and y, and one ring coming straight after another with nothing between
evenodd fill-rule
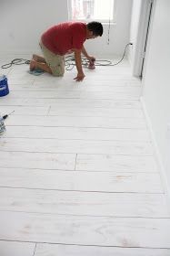
<instances>
[{"instance_id":1,"label":"white floor plank directly below the one with the central short seam","mask_svg":"<svg viewBox=\"0 0 170 256\"><path fill-rule=\"evenodd\" d=\"M0 176L0 187L94 192L164 192L160 176L156 173L71 172L49 169L1 168Z\"/></svg>"}]
</instances>

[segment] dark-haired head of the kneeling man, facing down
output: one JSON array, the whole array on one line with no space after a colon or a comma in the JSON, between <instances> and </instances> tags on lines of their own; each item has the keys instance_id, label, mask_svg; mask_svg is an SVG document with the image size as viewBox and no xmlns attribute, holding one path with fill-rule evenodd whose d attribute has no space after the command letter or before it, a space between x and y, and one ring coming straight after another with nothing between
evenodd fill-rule
<instances>
[{"instance_id":1,"label":"dark-haired head of the kneeling man, facing down","mask_svg":"<svg viewBox=\"0 0 170 256\"><path fill-rule=\"evenodd\" d=\"M86 33L87 39L95 38L95 37L102 37L102 35L103 35L104 29L100 22L97 22L97 21L89 22L86 25L86 28L87 28L87 33Z\"/></svg>"}]
</instances>

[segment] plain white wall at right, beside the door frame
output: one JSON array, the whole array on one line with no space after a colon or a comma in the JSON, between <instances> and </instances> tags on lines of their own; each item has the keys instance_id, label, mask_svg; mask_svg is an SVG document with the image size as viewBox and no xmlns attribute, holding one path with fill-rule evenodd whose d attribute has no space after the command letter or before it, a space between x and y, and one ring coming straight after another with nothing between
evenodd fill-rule
<instances>
[{"instance_id":1,"label":"plain white wall at right, beside the door frame","mask_svg":"<svg viewBox=\"0 0 170 256\"><path fill-rule=\"evenodd\" d=\"M143 80L143 101L170 188L170 1L155 0ZM169 162L170 163L170 162Z\"/></svg>"}]
</instances>

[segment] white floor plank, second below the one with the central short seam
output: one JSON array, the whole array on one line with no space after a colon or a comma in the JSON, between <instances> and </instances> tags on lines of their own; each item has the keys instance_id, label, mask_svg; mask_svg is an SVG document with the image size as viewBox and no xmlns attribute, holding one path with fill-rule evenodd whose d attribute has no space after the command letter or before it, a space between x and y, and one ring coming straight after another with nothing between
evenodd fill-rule
<instances>
[{"instance_id":1,"label":"white floor plank, second below the one with the central short seam","mask_svg":"<svg viewBox=\"0 0 170 256\"><path fill-rule=\"evenodd\" d=\"M170 218L165 195L0 187L0 210L112 217Z\"/></svg>"}]
</instances>

